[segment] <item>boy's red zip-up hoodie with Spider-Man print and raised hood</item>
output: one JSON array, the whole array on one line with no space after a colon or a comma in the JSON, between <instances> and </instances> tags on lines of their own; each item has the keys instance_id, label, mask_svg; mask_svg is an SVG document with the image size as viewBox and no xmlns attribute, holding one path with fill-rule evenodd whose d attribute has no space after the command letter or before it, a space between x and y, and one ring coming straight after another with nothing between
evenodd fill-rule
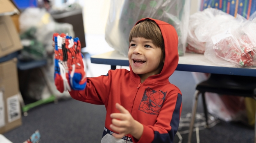
<instances>
[{"instance_id":1,"label":"boy's red zip-up hoodie with Spider-Man print and raised hood","mask_svg":"<svg viewBox=\"0 0 256 143\"><path fill-rule=\"evenodd\" d=\"M121 143L124 142L123 139L127 140L127 143L172 143L178 130L182 106L181 92L169 82L169 77L179 60L177 32L166 22L149 19L156 22L163 35L165 63L160 74L150 76L140 83L140 77L134 74L131 66L130 71L109 70L106 76L87 78L86 89L70 92L76 100L105 105L106 121L101 143ZM136 121L143 124L140 140L130 134L123 139L115 139L111 135L113 131L109 130L110 114L119 112L116 103L125 107Z\"/></svg>"}]
</instances>

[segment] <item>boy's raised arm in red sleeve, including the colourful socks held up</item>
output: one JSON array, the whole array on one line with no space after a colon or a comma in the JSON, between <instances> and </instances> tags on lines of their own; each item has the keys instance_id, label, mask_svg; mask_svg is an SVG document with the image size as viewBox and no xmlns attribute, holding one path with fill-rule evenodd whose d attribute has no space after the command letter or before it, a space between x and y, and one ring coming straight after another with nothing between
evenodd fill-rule
<instances>
[{"instance_id":1,"label":"boy's raised arm in red sleeve, including the colourful socks held up","mask_svg":"<svg viewBox=\"0 0 256 143\"><path fill-rule=\"evenodd\" d=\"M104 104L109 93L110 76L86 78L79 38L55 33L53 41L54 80L57 89L60 92L68 90L72 98L79 101Z\"/></svg>"}]
</instances>

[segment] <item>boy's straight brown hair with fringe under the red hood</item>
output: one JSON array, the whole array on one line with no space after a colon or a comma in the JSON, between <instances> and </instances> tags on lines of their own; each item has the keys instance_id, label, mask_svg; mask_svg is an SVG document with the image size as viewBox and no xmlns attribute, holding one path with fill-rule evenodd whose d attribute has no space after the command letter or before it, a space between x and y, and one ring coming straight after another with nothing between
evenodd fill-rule
<instances>
[{"instance_id":1,"label":"boy's straight brown hair with fringe under the red hood","mask_svg":"<svg viewBox=\"0 0 256 143\"><path fill-rule=\"evenodd\" d=\"M160 28L156 25L156 22L150 19L145 19L142 22L135 25L130 32L129 42L133 37L143 37L145 39L152 40L156 47L160 47L162 50L162 60L165 58L165 49L163 36Z\"/></svg>"}]
</instances>

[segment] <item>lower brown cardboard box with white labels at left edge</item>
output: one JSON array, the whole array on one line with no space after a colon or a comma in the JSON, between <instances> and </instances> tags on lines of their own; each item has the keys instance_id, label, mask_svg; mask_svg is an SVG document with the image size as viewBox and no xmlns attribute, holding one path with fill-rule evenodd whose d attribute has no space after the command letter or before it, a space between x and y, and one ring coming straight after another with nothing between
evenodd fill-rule
<instances>
[{"instance_id":1,"label":"lower brown cardboard box with white labels at left edge","mask_svg":"<svg viewBox=\"0 0 256 143\"><path fill-rule=\"evenodd\" d=\"M0 63L0 134L22 125L17 59Z\"/></svg>"}]
</instances>

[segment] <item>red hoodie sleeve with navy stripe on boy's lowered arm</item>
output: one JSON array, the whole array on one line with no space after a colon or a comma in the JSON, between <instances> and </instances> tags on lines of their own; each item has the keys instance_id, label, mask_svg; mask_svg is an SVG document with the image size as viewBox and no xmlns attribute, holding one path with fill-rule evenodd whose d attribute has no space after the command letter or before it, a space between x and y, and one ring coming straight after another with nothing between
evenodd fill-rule
<instances>
[{"instance_id":1,"label":"red hoodie sleeve with navy stripe on boy's lowered arm","mask_svg":"<svg viewBox=\"0 0 256 143\"><path fill-rule=\"evenodd\" d=\"M132 141L134 143L173 143L179 127L181 108L181 94L172 94L166 98L156 118L156 123L153 126L143 125L140 140L132 136Z\"/></svg>"}]
</instances>

